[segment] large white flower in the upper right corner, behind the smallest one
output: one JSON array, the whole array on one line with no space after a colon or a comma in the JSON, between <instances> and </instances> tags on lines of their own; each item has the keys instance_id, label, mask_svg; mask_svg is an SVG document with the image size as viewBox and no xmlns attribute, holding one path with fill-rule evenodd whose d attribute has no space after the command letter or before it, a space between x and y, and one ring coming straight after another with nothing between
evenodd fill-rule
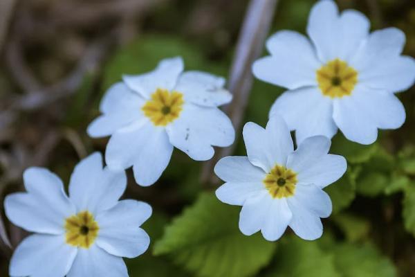
<instances>
[{"instance_id":1,"label":"large white flower in the upper right corner, behind the smallest one","mask_svg":"<svg viewBox=\"0 0 415 277\"><path fill-rule=\"evenodd\" d=\"M369 33L369 20L356 10L341 14L334 1L318 1L307 37L282 30L266 46L270 56L252 67L257 78L286 87L270 111L295 130L297 142L337 131L370 144L379 129L396 129L405 109L394 93L414 84L415 62L400 55L405 34L397 28Z\"/></svg>"}]
</instances>

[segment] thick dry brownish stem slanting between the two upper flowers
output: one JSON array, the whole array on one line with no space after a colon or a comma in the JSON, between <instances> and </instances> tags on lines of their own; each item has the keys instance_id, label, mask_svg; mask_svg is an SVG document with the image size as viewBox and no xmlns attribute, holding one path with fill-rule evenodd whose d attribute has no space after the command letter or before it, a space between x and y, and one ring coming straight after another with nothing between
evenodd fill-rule
<instances>
[{"instance_id":1,"label":"thick dry brownish stem slanting between the two upper flowers","mask_svg":"<svg viewBox=\"0 0 415 277\"><path fill-rule=\"evenodd\" d=\"M234 97L230 105L225 107L225 112L230 116L237 134L241 128L252 88L251 64L261 55L276 6L277 0L251 0L245 19L243 19L228 82L228 89ZM218 183L219 179L213 172L214 165L222 157L232 154L235 146L236 143L228 148L216 150L215 156L203 165L203 184L214 185Z\"/></svg>"}]
</instances>

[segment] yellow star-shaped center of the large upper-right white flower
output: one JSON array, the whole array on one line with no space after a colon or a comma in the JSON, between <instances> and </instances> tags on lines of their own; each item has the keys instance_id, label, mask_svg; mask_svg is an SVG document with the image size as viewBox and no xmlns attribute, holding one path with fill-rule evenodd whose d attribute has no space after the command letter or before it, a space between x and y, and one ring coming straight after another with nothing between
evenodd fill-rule
<instances>
[{"instance_id":1,"label":"yellow star-shaped center of the large upper-right white flower","mask_svg":"<svg viewBox=\"0 0 415 277\"><path fill-rule=\"evenodd\" d=\"M351 95L358 82L358 71L335 59L317 70L317 82L324 96L342 98Z\"/></svg>"}]
</instances>

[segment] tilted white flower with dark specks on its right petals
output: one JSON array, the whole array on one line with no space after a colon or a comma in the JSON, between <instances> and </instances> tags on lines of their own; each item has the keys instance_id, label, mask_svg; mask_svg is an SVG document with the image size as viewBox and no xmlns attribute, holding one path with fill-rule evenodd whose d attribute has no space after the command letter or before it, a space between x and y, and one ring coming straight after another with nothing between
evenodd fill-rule
<instances>
[{"instance_id":1,"label":"tilted white flower with dark specks on its right petals","mask_svg":"<svg viewBox=\"0 0 415 277\"><path fill-rule=\"evenodd\" d=\"M217 108L232 100L224 83L208 73L183 73L180 57L163 60L154 71L114 84L88 133L111 135L105 153L109 168L133 166L137 183L150 186L167 167L173 146L205 161L214 154L212 145L233 143L232 123Z\"/></svg>"}]
</instances>

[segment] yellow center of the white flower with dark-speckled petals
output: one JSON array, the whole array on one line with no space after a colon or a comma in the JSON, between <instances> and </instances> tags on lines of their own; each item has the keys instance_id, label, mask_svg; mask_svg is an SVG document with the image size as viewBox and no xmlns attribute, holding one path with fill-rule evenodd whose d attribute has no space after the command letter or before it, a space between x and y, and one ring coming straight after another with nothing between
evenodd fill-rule
<instances>
[{"instance_id":1,"label":"yellow center of the white flower with dark-speckled petals","mask_svg":"<svg viewBox=\"0 0 415 277\"><path fill-rule=\"evenodd\" d=\"M184 102L183 94L178 91L157 89L142 106L142 111L154 125L165 126L178 118Z\"/></svg>"}]
</instances>

